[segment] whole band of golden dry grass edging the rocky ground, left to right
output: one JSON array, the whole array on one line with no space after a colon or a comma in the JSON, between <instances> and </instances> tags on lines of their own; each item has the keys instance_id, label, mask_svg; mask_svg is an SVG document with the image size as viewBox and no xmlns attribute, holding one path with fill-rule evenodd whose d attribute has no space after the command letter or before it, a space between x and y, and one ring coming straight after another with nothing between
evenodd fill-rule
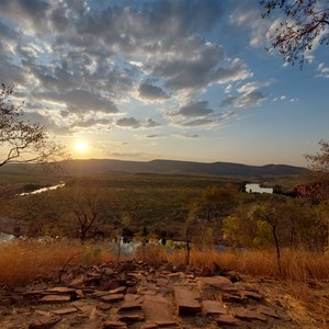
<instances>
[{"instance_id":1,"label":"whole band of golden dry grass edging the rocky ground, left to right","mask_svg":"<svg viewBox=\"0 0 329 329\"><path fill-rule=\"evenodd\" d=\"M15 241L1 246L0 287L20 286L43 277L59 277L59 271L69 264L95 264L115 261L110 246L81 245L73 241ZM135 258L150 264L184 263L184 250L168 252L166 247L149 243L136 250ZM197 268L237 271L260 281L270 296L288 296L291 307L304 309L316 321L326 324L329 316L329 254L282 250L282 273L279 273L274 252L243 251L218 253L191 252L191 264ZM303 318L303 316L300 316Z\"/></svg>"}]
</instances>

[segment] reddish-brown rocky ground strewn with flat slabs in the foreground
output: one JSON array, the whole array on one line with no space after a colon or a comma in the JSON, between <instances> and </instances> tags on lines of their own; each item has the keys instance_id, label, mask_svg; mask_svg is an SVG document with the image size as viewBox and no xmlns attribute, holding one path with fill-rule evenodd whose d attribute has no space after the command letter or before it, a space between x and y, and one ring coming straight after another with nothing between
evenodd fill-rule
<instances>
[{"instance_id":1,"label":"reddish-brown rocky ground strewn with flat slabs in the foreground","mask_svg":"<svg viewBox=\"0 0 329 329\"><path fill-rule=\"evenodd\" d=\"M324 328L275 281L144 262L67 266L0 291L0 328Z\"/></svg>"}]
</instances>

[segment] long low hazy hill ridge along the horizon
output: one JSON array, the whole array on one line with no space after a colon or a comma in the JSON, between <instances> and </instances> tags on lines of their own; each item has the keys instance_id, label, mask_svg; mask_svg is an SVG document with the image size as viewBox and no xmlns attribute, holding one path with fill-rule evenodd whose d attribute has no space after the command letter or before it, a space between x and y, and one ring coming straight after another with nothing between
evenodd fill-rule
<instances>
[{"instance_id":1,"label":"long low hazy hill ridge along the horizon","mask_svg":"<svg viewBox=\"0 0 329 329\"><path fill-rule=\"evenodd\" d=\"M7 164L0 174L24 174L33 164ZM230 162L192 162L175 160L123 161L111 159L69 160L65 171L72 175L110 173L197 174L224 177L261 177L298 174L306 169L287 164L247 166ZM35 168L33 170L35 172ZM38 171L38 170L36 170Z\"/></svg>"}]
</instances>

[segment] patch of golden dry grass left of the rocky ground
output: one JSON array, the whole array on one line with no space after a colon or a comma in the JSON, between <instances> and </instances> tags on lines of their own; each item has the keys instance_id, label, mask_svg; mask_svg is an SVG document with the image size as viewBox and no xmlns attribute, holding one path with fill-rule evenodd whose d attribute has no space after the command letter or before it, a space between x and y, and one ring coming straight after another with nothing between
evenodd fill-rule
<instances>
[{"instance_id":1,"label":"patch of golden dry grass left of the rocky ground","mask_svg":"<svg viewBox=\"0 0 329 329\"><path fill-rule=\"evenodd\" d=\"M16 286L38 277L58 277L59 270L70 264L92 264L113 260L100 247L79 242L15 241L1 245L0 286Z\"/></svg>"}]
</instances>

